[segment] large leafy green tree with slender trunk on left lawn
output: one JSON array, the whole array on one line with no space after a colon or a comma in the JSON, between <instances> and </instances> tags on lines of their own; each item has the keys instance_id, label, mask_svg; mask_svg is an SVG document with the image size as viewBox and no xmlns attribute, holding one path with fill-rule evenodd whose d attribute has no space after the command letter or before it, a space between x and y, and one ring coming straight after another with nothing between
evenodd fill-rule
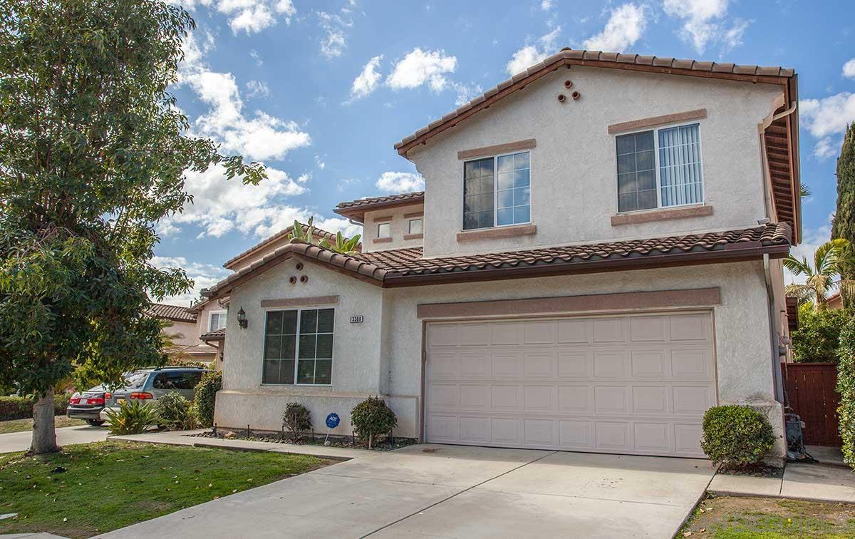
<instances>
[{"instance_id":1,"label":"large leafy green tree with slender trunk on left lawn","mask_svg":"<svg viewBox=\"0 0 855 539\"><path fill-rule=\"evenodd\" d=\"M168 87L184 9L154 0L0 0L0 385L36 394L33 453L56 451L53 386L161 363L150 299L186 291L150 264L155 223L192 201L187 170L262 166L187 135Z\"/></svg>"}]
</instances>

